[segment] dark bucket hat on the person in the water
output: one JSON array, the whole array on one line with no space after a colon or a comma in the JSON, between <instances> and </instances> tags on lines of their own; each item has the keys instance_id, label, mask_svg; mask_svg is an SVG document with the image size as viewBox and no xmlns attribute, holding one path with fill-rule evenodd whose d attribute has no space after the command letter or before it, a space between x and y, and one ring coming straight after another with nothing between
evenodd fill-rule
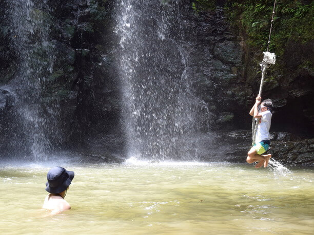
<instances>
[{"instance_id":1,"label":"dark bucket hat on the person in the water","mask_svg":"<svg viewBox=\"0 0 314 235\"><path fill-rule=\"evenodd\" d=\"M51 194L59 194L68 188L73 178L74 172L61 166L55 166L47 173L46 191Z\"/></svg>"}]
</instances>

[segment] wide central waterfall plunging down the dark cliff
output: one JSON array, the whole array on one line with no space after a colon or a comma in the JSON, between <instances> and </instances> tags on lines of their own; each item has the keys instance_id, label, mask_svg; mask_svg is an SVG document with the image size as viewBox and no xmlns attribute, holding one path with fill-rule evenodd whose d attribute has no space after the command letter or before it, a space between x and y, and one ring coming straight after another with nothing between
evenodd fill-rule
<instances>
[{"instance_id":1,"label":"wide central waterfall plunging down the dark cliff","mask_svg":"<svg viewBox=\"0 0 314 235\"><path fill-rule=\"evenodd\" d=\"M115 6L129 157L197 160L183 3L120 0Z\"/></svg>"}]
</instances>

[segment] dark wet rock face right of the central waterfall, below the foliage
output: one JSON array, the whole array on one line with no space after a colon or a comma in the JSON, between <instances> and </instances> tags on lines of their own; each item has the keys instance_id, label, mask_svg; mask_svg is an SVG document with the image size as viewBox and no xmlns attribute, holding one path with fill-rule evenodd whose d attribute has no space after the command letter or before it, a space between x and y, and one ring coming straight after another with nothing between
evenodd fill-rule
<instances>
[{"instance_id":1,"label":"dark wet rock face right of the central waterfall, below the foliage","mask_svg":"<svg viewBox=\"0 0 314 235\"><path fill-rule=\"evenodd\" d=\"M248 112L261 80L260 68L252 61L261 61L263 55L250 51L243 40L245 35L231 33L221 10L189 18L195 29L195 37L190 38L195 50L189 60L195 94L206 107L204 110L210 111L210 130L222 130L213 144L224 143L216 149L222 159L245 162L251 133L228 130L250 129L252 119ZM286 63L284 69L280 66L278 71L268 70L263 98L272 99L275 107L271 131L276 133L272 133L270 152L283 163L312 165L314 154L307 138L313 138L314 133L314 99L310 98L314 79L310 68L300 68L309 59L304 50L312 51L312 44L297 44L287 45L285 57L278 58L277 63Z\"/></svg>"}]
</instances>

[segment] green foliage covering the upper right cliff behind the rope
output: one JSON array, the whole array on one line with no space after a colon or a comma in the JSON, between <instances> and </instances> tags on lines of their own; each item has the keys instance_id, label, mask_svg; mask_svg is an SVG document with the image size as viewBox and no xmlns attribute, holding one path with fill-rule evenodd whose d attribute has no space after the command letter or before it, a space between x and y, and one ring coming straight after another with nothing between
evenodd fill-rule
<instances>
[{"instance_id":1,"label":"green foliage covering the upper right cliff behind the rope","mask_svg":"<svg viewBox=\"0 0 314 235\"><path fill-rule=\"evenodd\" d=\"M266 51L273 11L273 0L226 0L224 14L231 30L242 36L250 60L246 61L250 80L255 81L260 75L259 62L261 52ZM192 8L198 12L212 10L214 0L194 0ZM312 48L314 35L314 2L306 0L277 1L269 51L280 56L276 65L268 69L267 89L278 87L279 76L289 74L293 80L300 74L313 73ZM305 72L307 71L307 72ZM273 72L273 73L272 73ZM273 79L272 76L277 76ZM301 76L301 75L300 75Z\"/></svg>"}]
</instances>

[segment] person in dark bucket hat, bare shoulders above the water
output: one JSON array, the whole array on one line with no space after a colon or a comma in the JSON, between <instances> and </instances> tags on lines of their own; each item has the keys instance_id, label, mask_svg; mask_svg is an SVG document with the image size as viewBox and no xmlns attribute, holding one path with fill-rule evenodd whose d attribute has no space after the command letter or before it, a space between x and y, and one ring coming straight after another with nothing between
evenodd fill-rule
<instances>
[{"instance_id":1,"label":"person in dark bucket hat, bare shoulders above the water","mask_svg":"<svg viewBox=\"0 0 314 235\"><path fill-rule=\"evenodd\" d=\"M52 210L52 213L71 209L70 204L64 198L73 178L74 172L70 172L61 166L49 170L46 191L50 194L45 198L43 209Z\"/></svg>"}]
</instances>

